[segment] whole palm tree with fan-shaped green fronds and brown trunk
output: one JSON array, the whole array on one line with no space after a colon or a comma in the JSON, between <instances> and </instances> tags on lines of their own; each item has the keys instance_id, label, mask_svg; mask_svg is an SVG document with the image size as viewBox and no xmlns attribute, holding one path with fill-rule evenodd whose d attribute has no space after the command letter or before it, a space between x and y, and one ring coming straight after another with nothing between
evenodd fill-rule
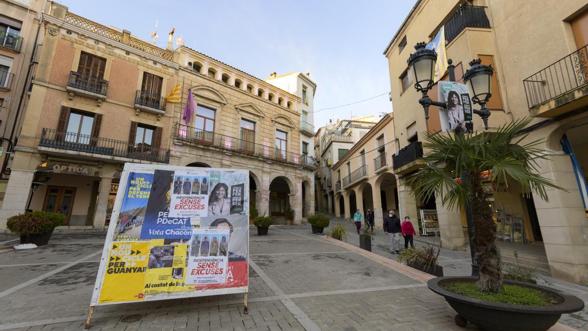
<instances>
[{"instance_id":1,"label":"whole palm tree with fan-shaped green fronds and brown trunk","mask_svg":"<svg viewBox=\"0 0 588 331\"><path fill-rule=\"evenodd\" d=\"M548 201L546 187L561 189L537 174L537 160L547 158L545 151L537 148L543 140L524 143L527 135L519 134L531 121L523 118L493 133L427 133L423 144L430 150L423 158L427 164L409 180L416 187L413 194L423 201L433 194L449 208L465 208L469 201L474 229L472 241L480 271L477 284L482 292L500 292L502 271L495 244L496 224L480 174L491 170L490 181L519 186L525 196L533 191L545 201ZM462 176L463 183L456 180Z\"/></svg>"}]
</instances>

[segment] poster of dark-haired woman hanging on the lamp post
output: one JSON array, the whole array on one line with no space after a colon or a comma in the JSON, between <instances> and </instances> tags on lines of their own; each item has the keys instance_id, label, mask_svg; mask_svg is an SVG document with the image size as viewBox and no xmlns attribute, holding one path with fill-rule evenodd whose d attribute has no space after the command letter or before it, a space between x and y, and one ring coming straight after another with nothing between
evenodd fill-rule
<instances>
[{"instance_id":1,"label":"poster of dark-haired woman hanging on the lamp post","mask_svg":"<svg viewBox=\"0 0 588 331\"><path fill-rule=\"evenodd\" d=\"M457 82L439 81L438 97L447 108L439 108L442 131L473 131L473 108L467 85Z\"/></svg>"}]
</instances>

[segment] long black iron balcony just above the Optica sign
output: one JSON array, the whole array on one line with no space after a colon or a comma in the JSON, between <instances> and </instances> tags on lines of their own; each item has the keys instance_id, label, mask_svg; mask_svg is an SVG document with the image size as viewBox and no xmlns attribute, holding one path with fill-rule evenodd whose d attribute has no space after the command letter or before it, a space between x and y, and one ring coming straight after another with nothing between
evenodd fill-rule
<instances>
[{"instance_id":1,"label":"long black iron balcony just above the Optica sign","mask_svg":"<svg viewBox=\"0 0 588 331\"><path fill-rule=\"evenodd\" d=\"M126 141L92 137L85 134L60 132L44 128L39 147L95 154L96 157L121 157L134 160L169 163L169 150Z\"/></svg>"}]
</instances>

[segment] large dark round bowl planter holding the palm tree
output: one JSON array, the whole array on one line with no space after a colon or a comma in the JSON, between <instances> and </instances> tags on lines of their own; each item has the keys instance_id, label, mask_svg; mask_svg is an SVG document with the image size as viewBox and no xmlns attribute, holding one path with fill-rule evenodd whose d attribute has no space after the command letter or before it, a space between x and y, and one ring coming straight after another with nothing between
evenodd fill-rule
<instances>
[{"instance_id":1,"label":"large dark round bowl planter holding the palm tree","mask_svg":"<svg viewBox=\"0 0 588 331\"><path fill-rule=\"evenodd\" d=\"M445 297L445 300L455 309L459 314L456 316L457 323L463 323L465 319L482 330L548 330L557 323L562 314L584 309L584 302L575 296L550 287L515 280L504 280L503 283L547 292L556 297L560 303L552 306L519 306L517 304L487 302L449 292L442 287L450 283L475 283L476 281L477 277L437 277L429 280L427 286L433 292Z\"/></svg>"}]
</instances>

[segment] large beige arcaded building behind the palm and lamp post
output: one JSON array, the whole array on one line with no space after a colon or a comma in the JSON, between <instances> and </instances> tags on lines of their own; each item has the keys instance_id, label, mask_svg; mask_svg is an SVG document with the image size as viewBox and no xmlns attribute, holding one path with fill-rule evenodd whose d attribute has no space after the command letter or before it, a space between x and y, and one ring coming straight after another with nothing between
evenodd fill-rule
<instances>
[{"instance_id":1,"label":"large beige arcaded building behind the palm and lamp post","mask_svg":"<svg viewBox=\"0 0 588 331\"><path fill-rule=\"evenodd\" d=\"M439 235L443 245L457 249L467 240L463 211L447 210L436 201L416 201L406 178L422 164L424 132L440 131L439 112L429 120L418 103L420 93L406 64L417 42L429 41L445 26L447 57L456 80L462 81L468 62L480 58L495 69L489 108L490 131L523 117L534 117L526 140L543 140L539 148L550 160L539 160L538 172L563 187L549 190L549 202L526 197L516 186L495 187L492 204L499 240L542 243L552 276L588 282L588 220L586 178L588 145L581 131L588 128L586 44L588 12L583 1L567 1L549 10L540 1L502 0L417 1L385 49L389 63L394 126L399 151L393 171L399 184L401 216L418 214L420 223ZM516 17L517 19L513 19ZM520 31L529 38L521 38ZM449 80L446 75L443 80ZM429 91L436 100L437 88ZM475 115L474 128L483 130ZM425 211L425 213L423 213Z\"/></svg>"}]
</instances>

